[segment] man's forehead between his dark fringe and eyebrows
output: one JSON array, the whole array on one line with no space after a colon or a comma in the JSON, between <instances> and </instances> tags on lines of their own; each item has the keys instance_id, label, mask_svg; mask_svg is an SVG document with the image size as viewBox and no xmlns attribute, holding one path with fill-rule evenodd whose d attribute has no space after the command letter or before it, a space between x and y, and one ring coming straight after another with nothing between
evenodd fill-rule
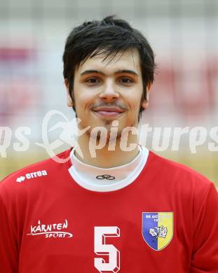
<instances>
[{"instance_id":1,"label":"man's forehead between his dark fringe and eyebrows","mask_svg":"<svg viewBox=\"0 0 218 273\"><path fill-rule=\"evenodd\" d=\"M133 70L139 75L141 74L140 57L137 49L125 50L116 54L114 57L107 57L105 54L100 54L95 57L88 58L86 62L78 67L77 72L82 73L86 70L100 70L104 73L113 73L118 70ZM113 59L111 59L113 57Z\"/></svg>"}]
</instances>

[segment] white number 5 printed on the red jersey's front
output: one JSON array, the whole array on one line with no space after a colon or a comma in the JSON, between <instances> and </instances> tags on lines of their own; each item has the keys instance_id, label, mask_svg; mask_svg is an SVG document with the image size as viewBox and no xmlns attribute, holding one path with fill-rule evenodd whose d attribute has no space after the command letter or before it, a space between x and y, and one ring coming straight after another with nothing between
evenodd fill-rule
<instances>
[{"instance_id":1,"label":"white number 5 printed on the red jersey's front","mask_svg":"<svg viewBox=\"0 0 218 273\"><path fill-rule=\"evenodd\" d=\"M95 227L95 253L109 256L109 262L105 262L103 258L95 258L95 268L99 272L118 272L120 251L112 244L106 244L107 237L120 237L120 229L118 227Z\"/></svg>"}]
</instances>

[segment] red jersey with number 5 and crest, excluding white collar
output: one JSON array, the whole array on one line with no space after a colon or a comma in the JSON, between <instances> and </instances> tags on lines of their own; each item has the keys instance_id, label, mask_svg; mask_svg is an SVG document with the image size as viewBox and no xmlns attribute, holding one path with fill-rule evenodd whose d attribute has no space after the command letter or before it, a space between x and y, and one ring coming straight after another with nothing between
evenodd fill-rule
<instances>
[{"instance_id":1,"label":"red jersey with number 5 and crest, excluding white collar","mask_svg":"<svg viewBox=\"0 0 218 273\"><path fill-rule=\"evenodd\" d=\"M217 190L203 176L150 152L135 181L100 193L70 167L48 159L0 183L1 273L218 272Z\"/></svg>"}]
</instances>

